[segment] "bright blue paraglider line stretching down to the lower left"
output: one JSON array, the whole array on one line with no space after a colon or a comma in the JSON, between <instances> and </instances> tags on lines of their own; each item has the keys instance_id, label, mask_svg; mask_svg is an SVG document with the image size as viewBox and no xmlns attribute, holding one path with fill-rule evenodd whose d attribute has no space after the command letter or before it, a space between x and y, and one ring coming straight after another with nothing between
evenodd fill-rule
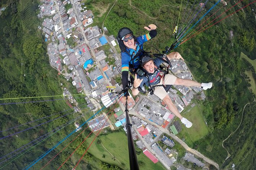
<instances>
[{"instance_id":1,"label":"bright blue paraglider line stretching down to the lower left","mask_svg":"<svg viewBox=\"0 0 256 170\"><path fill-rule=\"evenodd\" d=\"M117 96L116 96L116 98L117 98ZM115 99L116 99L115 98ZM112 100L111 100L111 102L112 102ZM110 103L111 103L110 102ZM104 109L105 108L105 106L102 108L102 109ZM98 112L96 112L96 114L98 114L102 109L100 109ZM83 122L83 124L82 125L80 125L80 127L82 127L83 125L85 125L85 123L87 123L91 118L93 118L96 114L94 114L94 115L92 115L88 120L86 120L85 122ZM80 128L80 127L78 127L78 128ZM77 128L77 129L78 129ZM25 168L26 168L26 170L28 170L29 168L31 168L34 164L36 164L39 160L41 160L43 157L45 157L47 154L49 154L53 149L55 149L57 146L59 146L59 144L61 144L63 141L65 141L69 136L71 136L73 133L75 133L76 132L76 130L77 129L75 129L75 130L73 130L73 132L71 132L71 133L69 133L65 138L63 138L61 141L59 141L57 144L55 144L55 146L52 148L52 149L49 149L48 151L46 151L46 152L44 152L44 154L42 154L41 156L39 156L37 159L35 159L33 162L31 162L31 163L33 163L32 165L27 165ZM31 164L30 163L30 164ZM29 167L28 167L29 166ZM23 168L23 170L25 169L25 168Z\"/></svg>"}]
</instances>

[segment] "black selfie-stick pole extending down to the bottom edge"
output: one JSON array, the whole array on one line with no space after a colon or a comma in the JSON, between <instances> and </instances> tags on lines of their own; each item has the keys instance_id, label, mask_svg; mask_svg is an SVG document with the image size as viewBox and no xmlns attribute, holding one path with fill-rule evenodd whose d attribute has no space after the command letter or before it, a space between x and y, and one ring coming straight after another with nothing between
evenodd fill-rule
<instances>
[{"instance_id":1,"label":"black selfie-stick pole extending down to the bottom edge","mask_svg":"<svg viewBox=\"0 0 256 170\"><path fill-rule=\"evenodd\" d=\"M129 119L129 111L128 111L128 102L126 98L126 130L127 130L127 137L128 137L128 149L129 149L129 159L130 159L130 170L139 170L139 164L134 148L134 142L132 139L132 124L130 123Z\"/></svg>"}]
</instances>

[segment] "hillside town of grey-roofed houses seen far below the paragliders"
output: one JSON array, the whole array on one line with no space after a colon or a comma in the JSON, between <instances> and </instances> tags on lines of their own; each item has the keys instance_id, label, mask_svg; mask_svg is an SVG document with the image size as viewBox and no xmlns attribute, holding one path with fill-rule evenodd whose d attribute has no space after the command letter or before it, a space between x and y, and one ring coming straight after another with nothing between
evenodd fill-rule
<instances>
[{"instance_id":1,"label":"hillside town of grey-roofed houses seen far below the paragliders","mask_svg":"<svg viewBox=\"0 0 256 170\"><path fill-rule=\"evenodd\" d=\"M94 16L81 0L41 0L38 18L42 19L44 40L47 43L47 52L51 67L72 82L77 93L86 94L85 103L91 111L101 109L101 104L109 107L116 103L116 95L108 93L108 86L116 87L121 91L121 58L120 49L115 35L108 35L108 28L94 25ZM193 79L188 66L182 60L171 61L171 72L181 79ZM70 89L64 88L63 95L67 104L78 112L77 101L73 98ZM193 98L204 100L205 94L201 88L173 85L168 95L177 106L179 112L186 107L194 107ZM175 164L178 153L172 149L175 142L165 134L177 135L182 124L174 121L166 104L155 95L139 95L129 103L129 114L133 124L133 139L143 154L153 163L160 161L167 169ZM120 102L114 110L115 122L107 121L103 115L98 115L88 122L93 132L111 127L122 127L126 131L126 117L124 103ZM107 122L107 123L105 123ZM77 131L81 129L76 122ZM163 149L163 147L165 149ZM184 160L204 167L205 163L197 156L186 152ZM177 169L186 170L182 165Z\"/></svg>"}]
</instances>

